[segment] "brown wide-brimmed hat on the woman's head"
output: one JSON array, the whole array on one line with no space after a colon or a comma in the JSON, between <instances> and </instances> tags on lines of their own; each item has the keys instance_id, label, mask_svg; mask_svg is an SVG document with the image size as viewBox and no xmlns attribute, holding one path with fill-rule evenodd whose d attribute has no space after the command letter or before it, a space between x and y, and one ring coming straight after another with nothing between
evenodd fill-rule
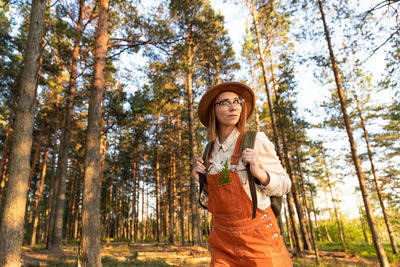
<instances>
[{"instance_id":1,"label":"brown wide-brimmed hat on the woman's head","mask_svg":"<svg viewBox=\"0 0 400 267\"><path fill-rule=\"evenodd\" d=\"M208 126L208 111L210 105L220 93L226 91L234 92L245 100L247 111L246 119L248 119L251 113L253 113L256 98L254 96L253 90L251 90L250 87L240 82L220 83L208 89L207 92L200 99L198 114L200 121L201 123L203 123L204 126Z\"/></svg>"}]
</instances>

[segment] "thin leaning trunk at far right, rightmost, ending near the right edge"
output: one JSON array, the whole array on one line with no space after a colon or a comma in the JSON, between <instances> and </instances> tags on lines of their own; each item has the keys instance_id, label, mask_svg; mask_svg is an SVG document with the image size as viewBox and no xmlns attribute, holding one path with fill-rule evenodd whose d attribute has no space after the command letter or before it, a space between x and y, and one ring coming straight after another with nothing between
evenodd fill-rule
<instances>
[{"instance_id":1,"label":"thin leaning trunk at far right, rightmost, ending near the right edge","mask_svg":"<svg viewBox=\"0 0 400 267\"><path fill-rule=\"evenodd\" d=\"M374 176L376 193L378 194L378 199L379 199L379 203L381 205L383 218L385 219L385 224L386 224L386 229L387 229L387 232L388 232L388 235L389 235L390 244L392 245L393 254L399 255L399 249L397 248L396 241L395 241L394 236L393 236L392 227L390 225L389 218L388 218L388 216L386 214L386 208L385 208L385 203L383 202L382 190L381 190L381 187L380 187L380 185L378 183L378 176L376 175L376 170L375 170L374 160L373 160L373 156L372 156L371 146L369 144L368 131L367 131L367 127L365 126L364 117L362 115L360 101L358 100L356 94L354 95L354 97L355 97L355 99L357 101L357 110L358 110L358 115L359 115L360 120L361 120L361 126L362 126L363 131L364 131L364 139L365 139L365 144L367 145L368 159L369 159L369 162L371 164L371 171L372 171L372 175Z\"/></svg>"}]
</instances>

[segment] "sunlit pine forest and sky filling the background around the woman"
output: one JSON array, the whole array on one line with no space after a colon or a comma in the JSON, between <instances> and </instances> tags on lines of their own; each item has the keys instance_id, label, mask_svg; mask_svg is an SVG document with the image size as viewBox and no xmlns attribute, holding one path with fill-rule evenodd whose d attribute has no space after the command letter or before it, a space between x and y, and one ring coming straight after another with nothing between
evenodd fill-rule
<instances>
[{"instance_id":1,"label":"sunlit pine forest and sky filling the background around the woman","mask_svg":"<svg viewBox=\"0 0 400 267\"><path fill-rule=\"evenodd\" d=\"M224 81L254 91L248 129L291 179L294 266L399 265L399 19L399 0L0 0L0 265L208 266L197 106Z\"/></svg>"}]
</instances>

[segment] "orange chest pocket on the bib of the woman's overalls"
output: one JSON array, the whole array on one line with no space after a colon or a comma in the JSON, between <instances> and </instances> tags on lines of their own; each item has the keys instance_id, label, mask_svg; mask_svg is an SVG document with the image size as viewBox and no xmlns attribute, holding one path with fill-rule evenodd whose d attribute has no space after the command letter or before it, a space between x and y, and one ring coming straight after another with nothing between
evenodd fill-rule
<instances>
[{"instance_id":1,"label":"orange chest pocket on the bib of the woman's overalls","mask_svg":"<svg viewBox=\"0 0 400 267\"><path fill-rule=\"evenodd\" d=\"M236 216L242 212L239 190L234 182L208 185L208 210L214 216Z\"/></svg>"}]
</instances>

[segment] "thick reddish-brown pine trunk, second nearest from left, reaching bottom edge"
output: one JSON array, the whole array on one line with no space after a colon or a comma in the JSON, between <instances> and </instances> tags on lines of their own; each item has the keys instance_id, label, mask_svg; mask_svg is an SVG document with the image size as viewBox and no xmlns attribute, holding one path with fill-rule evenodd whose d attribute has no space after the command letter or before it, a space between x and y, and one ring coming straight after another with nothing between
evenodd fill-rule
<instances>
[{"instance_id":1,"label":"thick reddish-brown pine trunk, second nearest from left, reaching bottom edge","mask_svg":"<svg viewBox=\"0 0 400 267\"><path fill-rule=\"evenodd\" d=\"M108 43L108 4L109 0L98 2L98 24L93 86L91 87L86 134L86 154L84 189L82 203L82 239L79 253L81 266L101 267L101 228L100 228L100 184L102 174L98 172L100 160L100 134L102 123L101 103L104 90L104 69Z\"/></svg>"}]
</instances>

